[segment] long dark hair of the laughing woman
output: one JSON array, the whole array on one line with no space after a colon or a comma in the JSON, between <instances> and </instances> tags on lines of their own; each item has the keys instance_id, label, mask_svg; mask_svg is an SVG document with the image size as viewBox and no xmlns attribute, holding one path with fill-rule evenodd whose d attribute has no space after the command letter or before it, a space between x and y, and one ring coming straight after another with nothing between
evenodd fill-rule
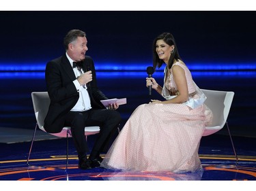
<instances>
[{"instance_id":1,"label":"long dark hair of the laughing woman","mask_svg":"<svg viewBox=\"0 0 256 191\"><path fill-rule=\"evenodd\" d=\"M161 40L161 39L163 41L165 41L165 43L168 44L169 46L174 45L174 52L171 54L171 57L169 59L168 68L170 69L172 67L174 59L182 60L180 58L179 52L177 51L177 45L175 43L175 39L174 39L173 35L171 33L162 33L161 35L156 37L156 39L154 39L154 42L153 42L153 67L154 67L154 70L156 69L156 67L160 68L162 66L162 63L164 63L163 60L159 59L158 54L156 53L156 41Z\"/></svg>"}]
</instances>

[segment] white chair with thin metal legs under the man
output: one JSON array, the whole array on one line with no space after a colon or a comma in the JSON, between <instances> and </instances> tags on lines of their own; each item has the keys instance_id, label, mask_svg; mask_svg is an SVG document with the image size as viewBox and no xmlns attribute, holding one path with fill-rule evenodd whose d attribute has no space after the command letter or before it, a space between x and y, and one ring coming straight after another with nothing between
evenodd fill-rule
<instances>
[{"instance_id":1,"label":"white chair with thin metal legs under the man","mask_svg":"<svg viewBox=\"0 0 256 191\"><path fill-rule=\"evenodd\" d=\"M29 155L27 157L27 165L29 165L29 157L31 154L33 141L35 139L35 132L37 128L40 128L42 131L46 132L44 130L44 118L46 117L48 107L50 105L50 98L48 97L48 92L32 92L32 103L33 103L33 110L35 112L35 119L36 119L36 125L35 130L33 132L33 137L31 141L31 146L29 149ZM87 140L88 135L94 135L100 132L99 126L85 126L85 137ZM68 169L68 137L72 137L70 127L66 126L62 128L62 131L60 133L49 133L51 135L54 135L56 137L66 137L67 145L66 145L66 169Z\"/></svg>"}]
</instances>

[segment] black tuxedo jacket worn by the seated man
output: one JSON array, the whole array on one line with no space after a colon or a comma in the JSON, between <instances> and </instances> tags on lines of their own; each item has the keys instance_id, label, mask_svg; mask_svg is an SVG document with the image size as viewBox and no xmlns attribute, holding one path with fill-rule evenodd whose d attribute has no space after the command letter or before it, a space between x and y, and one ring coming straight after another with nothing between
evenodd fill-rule
<instances>
[{"instance_id":1,"label":"black tuxedo jacket worn by the seated man","mask_svg":"<svg viewBox=\"0 0 256 191\"><path fill-rule=\"evenodd\" d=\"M91 57L85 56L82 67L83 71L87 71L89 68L92 72L92 81L87 86L91 107L96 109L105 108L100 100L107 98L98 89L94 61ZM66 54L47 63L45 79L51 103L44 120L44 129L48 133L59 133L63 128L66 114L79 99L79 92L73 83L76 76Z\"/></svg>"}]
</instances>

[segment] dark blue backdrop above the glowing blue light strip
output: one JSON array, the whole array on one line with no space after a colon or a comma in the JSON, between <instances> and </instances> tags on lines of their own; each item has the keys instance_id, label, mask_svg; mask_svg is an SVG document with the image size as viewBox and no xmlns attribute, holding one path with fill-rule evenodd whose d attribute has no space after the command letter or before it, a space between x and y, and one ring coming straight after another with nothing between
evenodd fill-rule
<instances>
[{"instance_id":1,"label":"dark blue backdrop above the glowing blue light strip","mask_svg":"<svg viewBox=\"0 0 256 191\"><path fill-rule=\"evenodd\" d=\"M63 53L70 29L81 29L98 61L150 62L152 41L165 31L188 61L255 61L255 18L242 11L0 12L0 59L47 61Z\"/></svg>"}]
</instances>

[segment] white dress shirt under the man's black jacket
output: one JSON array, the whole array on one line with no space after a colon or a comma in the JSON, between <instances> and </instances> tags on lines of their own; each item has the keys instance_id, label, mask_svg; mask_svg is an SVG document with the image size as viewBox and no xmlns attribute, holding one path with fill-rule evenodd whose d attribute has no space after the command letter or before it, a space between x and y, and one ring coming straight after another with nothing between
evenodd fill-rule
<instances>
[{"instance_id":1,"label":"white dress shirt under the man's black jacket","mask_svg":"<svg viewBox=\"0 0 256 191\"><path fill-rule=\"evenodd\" d=\"M70 61L71 67L73 68L74 60L72 60L70 58L70 56L68 56L67 53L66 53L66 56L67 56L68 60ZM79 70L76 67L73 68L73 71L74 71L74 75L76 75L76 77L79 77L81 75L81 73L79 72ZM84 73L83 69L81 69L81 72ZM81 86L79 84L79 80L77 80L77 79L74 80L73 83L74 83L74 86L76 86L77 92L79 92L79 100L77 101L76 105L74 105L74 107L70 111L86 111L88 109L91 109L91 100L89 98L86 84L85 84L85 86Z\"/></svg>"}]
</instances>

